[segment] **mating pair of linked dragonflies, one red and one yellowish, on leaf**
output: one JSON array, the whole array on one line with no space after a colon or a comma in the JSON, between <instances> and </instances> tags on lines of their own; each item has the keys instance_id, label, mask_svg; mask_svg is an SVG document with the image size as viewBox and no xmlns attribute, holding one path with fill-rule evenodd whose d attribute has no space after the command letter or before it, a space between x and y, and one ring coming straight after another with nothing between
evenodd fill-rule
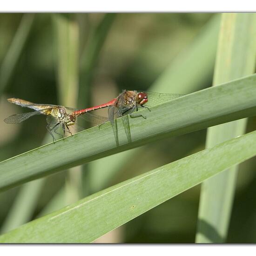
<instances>
[{"instance_id":1,"label":"mating pair of linked dragonflies, one red and one yellowish, on leaf","mask_svg":"<svg viewBox=\"0 0 256 256\"><path fill-rule=\"evenodd\" d=\"M135 114L133 112L138 111L138 108L152 107L162 102L170 101L181 96L183 96L183 94L159 94L152 92L124 90L121 94L119 94L118 97L108 101L107 103L81 110L58 105L36 104L30 101L10 98L8 99L9 102L20 105L21 107L32 108L35 111L11 115L4 121L6 123L20 123L34 115L47 115L47 130L53 137L54 141L55 138L53 132L55 134L61 135L58 132L59 128L62 129L63 135L65 135L66 132L72 135L70 127L76 124L77 116L82 115L86 121L93 122L97 125L101 125L106 121L111 121L113 129L115 129L115 118L121 117L123 115L130 115L130 117L142 117L146 119L146 116ZM108 108L108 118L89 113L100 108ZM150 111L150 108L148 108L148 110Z\"/></svg>"}]
</instances>

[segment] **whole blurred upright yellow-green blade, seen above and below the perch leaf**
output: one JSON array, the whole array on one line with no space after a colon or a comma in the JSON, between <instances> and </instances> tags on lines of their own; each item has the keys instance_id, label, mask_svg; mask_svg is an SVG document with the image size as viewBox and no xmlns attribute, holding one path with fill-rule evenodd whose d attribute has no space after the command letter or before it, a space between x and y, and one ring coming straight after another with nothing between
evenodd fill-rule
<instances>
[{"instance_id":1,"label":"whole blurred upright yellow-green blade, seen above and below the perch leaf","mask_svg":"<svg viewBox=\"0 0 256 256\"><path fill-rule=\"evenodd\" d=\"M77 106L79 89L79 25L76 14L53 14L59 103ZM79 167L78 167L79 168ZM68 170L66 199L76 202L82 195L81 168Z\"/></svg>"}]
</instances>

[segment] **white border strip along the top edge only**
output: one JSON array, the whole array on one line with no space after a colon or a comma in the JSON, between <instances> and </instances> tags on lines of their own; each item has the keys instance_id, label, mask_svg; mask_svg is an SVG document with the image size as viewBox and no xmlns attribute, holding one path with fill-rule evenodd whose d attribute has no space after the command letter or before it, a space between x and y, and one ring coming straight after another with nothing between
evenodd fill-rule
<instances>
[{"instance_id":1,"label":"white border strip along the top edge only","mask_svg":"<svg viewBox=\"0 0 256 256\"><path fill-rule=\"evenodd\" d=\"M256 1L243 0L7 0L0 12L253 12Z\"/></svg>"}]
</instances>

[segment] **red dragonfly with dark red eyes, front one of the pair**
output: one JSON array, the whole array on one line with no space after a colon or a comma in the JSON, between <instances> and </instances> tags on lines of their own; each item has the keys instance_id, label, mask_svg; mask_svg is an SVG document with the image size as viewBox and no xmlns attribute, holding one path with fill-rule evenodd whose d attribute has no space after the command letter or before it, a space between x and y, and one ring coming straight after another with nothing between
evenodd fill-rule
<instances>
[{"instance_id":1,"label":"red dragonfly with dark red eyes, front one of the pair","mask_svg":"<svg viewBox=\"0 0 256 256\"><path fill-rule=\"evenodd\" d=\"M107 103L100 104L91 108L85 108L81 110L75 111L74 115L83 115L93 110L97 110L100 108L108 108L108 121L111 121L116 142L117 141L117 129L115 127L115 118L130 115L133 117L142 117L146 119L145 115L135 114L139 108L147 108L149 111L152 106L161 104L165 101L171 101L178 97L182 97L184 94L161 94L155 92L143 92L143 91L128 91L123 90L121 94L119 94L116 98ZM131 142L130 132L129 132L129 124L128 118L122 120L125 128L126 135L128 137L128 141Z\"/></svg>"}]
</instances>

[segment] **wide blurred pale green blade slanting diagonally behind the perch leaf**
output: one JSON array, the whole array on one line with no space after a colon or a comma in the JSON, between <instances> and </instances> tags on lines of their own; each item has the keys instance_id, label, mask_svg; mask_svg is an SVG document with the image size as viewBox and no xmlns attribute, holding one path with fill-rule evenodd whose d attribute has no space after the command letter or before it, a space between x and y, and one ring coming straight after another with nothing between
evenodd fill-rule
<instances>
[{"instance_id":1,"label":"wide blurred pale green blade slanting diagonally behind the perch leaf","mask_svg":"<svg viewBox=\"0 0 256 256\"><path fill-rule=\"evenodd\" d=\"M149 90L189 94L205 87L213 74L219 26L220 15L216 14L202 28L192 44L166 67ZM183 75L184 71L186 75ZM130 161L133 155L139 154L140 150L129 150L90 163L92 191L96 192L105 188L122 166Z\"/></svg>"}]
</instances>

